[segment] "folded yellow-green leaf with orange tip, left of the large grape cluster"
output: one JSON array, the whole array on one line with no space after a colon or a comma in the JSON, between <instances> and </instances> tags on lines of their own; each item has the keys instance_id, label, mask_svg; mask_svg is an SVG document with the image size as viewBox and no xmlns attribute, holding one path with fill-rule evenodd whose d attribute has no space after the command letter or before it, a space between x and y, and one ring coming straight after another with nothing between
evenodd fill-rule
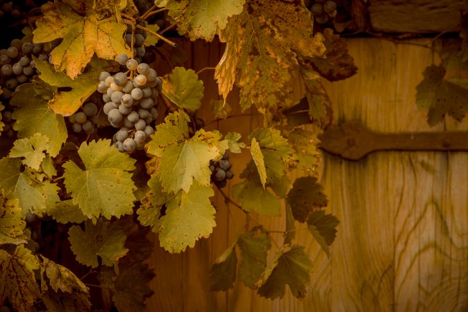
<instances>
[{"instance_id":1,"label":"folded yellow-green leaf with orange tip, left of the large grape cluster","mask_svg":"<svg viewBox=\"0 0 468 312\"><path fill-rule=\"evenodd\" d=\"M34 58L36 68L40 71L39 78L45 83L56 87L53 98L48 102L49 108L63 116L69 116L96 91L96 82L101 71L108 69L109 63L93 58L88 69L72 80L63 71L56 71L49 62ZM63 91L59 91L61 88Z\"/></svg>"}]
</instances>

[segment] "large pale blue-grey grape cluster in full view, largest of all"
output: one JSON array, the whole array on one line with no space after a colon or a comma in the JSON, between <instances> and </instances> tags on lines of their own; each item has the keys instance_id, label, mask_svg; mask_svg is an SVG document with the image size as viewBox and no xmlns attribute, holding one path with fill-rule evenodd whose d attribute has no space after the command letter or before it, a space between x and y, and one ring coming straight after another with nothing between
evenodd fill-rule
<instances>
[{"instance_id":1,"label":"large pale blue-grey grape cluster in full view, largest of all","mask_svg":"<svg viewBox=\"0 0 468 312\"><path fill-rule=\"evenodd\" d=\"M120 129L113 138L115 147L122 153L133 153L155 132L151 122L158 118L155 106L162 81L147 63L138 64L124 54L117 56L117 62L125 64L128 71L114 75L101 72L97 91L103 94L108 121Z\"/></svg>"}]
</instances>

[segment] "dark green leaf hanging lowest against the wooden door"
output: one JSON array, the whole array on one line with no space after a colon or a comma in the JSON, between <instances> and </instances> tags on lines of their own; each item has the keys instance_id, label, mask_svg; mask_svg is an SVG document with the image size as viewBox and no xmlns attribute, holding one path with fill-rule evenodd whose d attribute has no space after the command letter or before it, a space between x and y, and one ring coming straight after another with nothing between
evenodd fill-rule
<instances>
[{"instance_id":1,"label":"dark green leaf hanging lowest against the wooden door","mask_svg":"<svg viewBox=\"0 0 468 312\"><path fill-rule=\"evenodd\" d=\"M304 248L293 245L290 250L279 255L275 264L270 270L267 269L267 272L271 272L271 274L265 283L258 288L258 294L269 299L282 298L285 295L286 285L288 285L294 297L305 297L306 285L310 281L312 261L304 252Z\"/></svg>"}]
</instances>

